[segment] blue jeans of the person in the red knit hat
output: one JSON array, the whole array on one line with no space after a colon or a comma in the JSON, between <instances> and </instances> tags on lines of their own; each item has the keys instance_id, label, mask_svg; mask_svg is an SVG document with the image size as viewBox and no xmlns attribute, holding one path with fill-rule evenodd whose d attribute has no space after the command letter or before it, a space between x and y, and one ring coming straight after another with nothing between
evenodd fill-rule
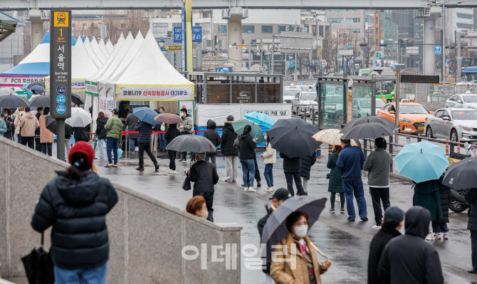
<instances>
[{"instance_id":1,"label":"blue jeans of the person in the red knit hat","mask_svg":"<svg viewBox=\"0 0 477 284\"><path fill-rule=\"evenodd\" d=\"M95 268L63 269L55 265L56 284L104 284L108 263Z\"/></svg>"}]
</instances>

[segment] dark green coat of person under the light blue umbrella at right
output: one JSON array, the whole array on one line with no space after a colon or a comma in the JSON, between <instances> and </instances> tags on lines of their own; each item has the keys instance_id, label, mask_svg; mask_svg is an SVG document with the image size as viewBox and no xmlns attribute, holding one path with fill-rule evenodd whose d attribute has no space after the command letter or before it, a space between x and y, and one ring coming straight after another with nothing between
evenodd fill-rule
<instances>
[{"instance_id":1,"label":"dark green coat of person under the light blue umbrella at right","mask_svg":"<svg viewBox=\"0 0 477 284\"><path fill-rule=\"evenodd\" d=\"M422 206L431 212L431 220L442 218L441 196L437 179L419 182L414 186L413 206Z\"/></svg>"}]
</instances>

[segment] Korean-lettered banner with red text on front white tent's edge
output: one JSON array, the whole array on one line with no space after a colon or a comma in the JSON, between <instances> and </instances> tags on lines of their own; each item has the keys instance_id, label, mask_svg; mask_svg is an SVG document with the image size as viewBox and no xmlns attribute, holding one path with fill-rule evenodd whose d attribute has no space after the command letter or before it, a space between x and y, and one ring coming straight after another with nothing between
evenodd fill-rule
<instances>
[{"instance_id":1,"label":"Korean-lettered banner with red text on front white tent's edge","mask_svg":"<svg viewBox=\"0 0 477 284\"><path fill-rule=\"evenodd\" d=\"M192 100L192 85L117 85L117 100Z\"/></svg>"}]
</instances>

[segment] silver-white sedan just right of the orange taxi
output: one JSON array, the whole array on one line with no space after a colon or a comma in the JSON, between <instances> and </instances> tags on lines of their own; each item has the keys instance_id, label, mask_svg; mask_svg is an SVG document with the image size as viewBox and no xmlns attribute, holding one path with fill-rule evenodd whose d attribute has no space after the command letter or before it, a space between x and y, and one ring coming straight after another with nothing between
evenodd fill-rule
<instances>
[{"instance_id":1,"label":"silver-white sedan just right of the orange taxi","mask_svg":"<svg viewBox=\"0 0 477 284\"><path fill-rule=\"evenodd\" d=\"M477 110L470 107L447 107L426 117L426 136L451 141L477 140Z\"/></svg>"}]
</instances>

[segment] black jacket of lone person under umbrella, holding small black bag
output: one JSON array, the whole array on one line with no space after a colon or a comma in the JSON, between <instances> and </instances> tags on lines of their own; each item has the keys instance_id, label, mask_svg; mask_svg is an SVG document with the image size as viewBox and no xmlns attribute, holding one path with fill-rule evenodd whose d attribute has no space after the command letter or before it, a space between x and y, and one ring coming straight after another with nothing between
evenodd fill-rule
<instances>
[{"instance_id":1,"label":"black jacket of lone person under umbrella, holding small black bag","mask_svg":"<svg viewBox=\"0 0 477 284\"><path fill-rule=\"evenodd\" d=\"M214 184L219 182L219 175L214 164L201 160L191 167L189 175L191 182L194 182L194 192L214 192Z\"/></svg>"}]
</instances>

